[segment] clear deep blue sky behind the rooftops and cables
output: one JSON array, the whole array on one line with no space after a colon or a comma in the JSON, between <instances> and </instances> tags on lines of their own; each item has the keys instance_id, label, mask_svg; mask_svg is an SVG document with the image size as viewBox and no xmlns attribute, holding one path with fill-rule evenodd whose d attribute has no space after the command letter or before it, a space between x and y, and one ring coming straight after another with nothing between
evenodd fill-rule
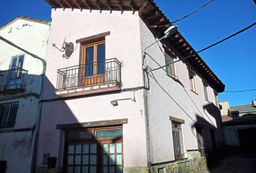
<instances>
[{"instance_id":1,"label":"clear deep blue sky behind the rooftops and cables","mask_svg":"<svg viewBox=\"0 0 256 173\"><path fill-rule=\"evenodd\" d=\"M155 0L171 21L208 1ZM193 48L201 50L256 22L255 12L253 0L217 0L176 25ZM51 6L43 0L0 0L0 26L17 16L51 20ZM205 50L200 56L226 84L226 90L256 89L256 27ZM256 92L221 93L219 99L229 100L231 105L250 104L256 99Z\"/></svg>"}]
</instances>

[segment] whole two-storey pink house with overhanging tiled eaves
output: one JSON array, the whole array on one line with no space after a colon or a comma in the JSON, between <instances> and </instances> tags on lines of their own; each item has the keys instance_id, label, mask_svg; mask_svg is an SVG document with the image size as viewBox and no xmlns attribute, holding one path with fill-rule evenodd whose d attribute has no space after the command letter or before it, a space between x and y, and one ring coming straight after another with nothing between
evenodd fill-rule
<instances>
[{"instance_id":1,"label":"whole two-storey pink house with overhanging tiled eaves","mask_svg":"<svg viewBox=\"0 0 256 173\"><path fill-rule=\"evenodd\" d=\"M225 86L178 31L155 43L171 25L155 2L47 2L37 172L48 171L49 156L51 172L207 169L205 151L223 144ZM168 66L153 71L155 61Z\"/></svg>"}]
</instances>

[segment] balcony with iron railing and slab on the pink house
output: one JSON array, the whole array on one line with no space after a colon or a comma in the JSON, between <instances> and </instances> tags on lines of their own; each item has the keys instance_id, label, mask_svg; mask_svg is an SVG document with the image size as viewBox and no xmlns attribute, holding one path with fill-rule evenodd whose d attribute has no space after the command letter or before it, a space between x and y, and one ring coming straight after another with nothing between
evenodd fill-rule
<instances>
[{"instance_id":1,"label":"balcony with iron railing and slab on the pink house","mask_svg":"<svg viewBox=\"0 0 256 173\"><path fill-rule=\"evenodd\" d=\"M60 97L110 92L120 88L121 63L116 58L57 71L56 94Z\"/></svg>"}]
</instances>

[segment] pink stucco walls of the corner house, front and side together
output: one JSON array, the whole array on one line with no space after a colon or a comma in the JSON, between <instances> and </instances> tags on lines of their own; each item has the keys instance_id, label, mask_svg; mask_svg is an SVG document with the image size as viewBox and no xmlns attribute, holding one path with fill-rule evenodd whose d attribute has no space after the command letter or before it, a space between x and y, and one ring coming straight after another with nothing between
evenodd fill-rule
<instances>
[{"instance_id":1,"label":"pink stucco walls of the corner house, front and side together","mask_svg":"<svg viewBox=\"0 0 256 173\"><path fill-rule=\"evenodd\" d=\"M216 143L222 143L218 127L220 112L213 89L208 86L209 100L206 101L202 79L196 75L197 93L190 91L187 66L182 61L175 64L176 80L164 71L155 72L155 77L171 97L152 79L149 91L140 88L144 80L142 50L153 43L155 37L138 12L53 9L51 17L36 167L46 167L43 154L56 157L59 169L64 167L65 132L57 129L56 125L127 119L127 123L122 125L123 167L126 172L135 168L144 172L150 164L175 159L170 116L184 120L182 145L185 156L189 151L198 149L197 125L203 126L205 148L213 148L210 130L216 132ZM116 92L97 94L99 90L95 89L93 95L60 99L56 91L57 69L79 65L82 45L76 44L76 40L103 32L110 32L105 37L106 60L116 58L121 62L121 86ZM74 53L69 59L62 58L63 53L51 46L61 46L64 38L66 42L74 43ZM156 61L164 64L161 50L163 46L159 43L147 51ZM182 57L176 55L176 58ZM149 58L145 59L145 64L157 67ZM112 100L119 100L119 105L112 106Z\"/></svg>"}]
</instances>

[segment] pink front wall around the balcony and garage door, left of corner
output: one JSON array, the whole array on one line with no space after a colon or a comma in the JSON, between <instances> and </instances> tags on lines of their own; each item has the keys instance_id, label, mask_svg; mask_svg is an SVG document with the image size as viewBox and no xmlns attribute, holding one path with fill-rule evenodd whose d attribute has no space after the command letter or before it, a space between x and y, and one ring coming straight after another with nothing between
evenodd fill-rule
<instances>
[{"instance_id":1,"label":"pink front wall around the balcony and garage door, left of corner","mask_svg":"<svg viewBox=\"0 0 256 173\"><path fill-rule=\"evenodd\" d=\"M137 12L98 11L80 9L56 9L52 11L49 45L61 46L64 37L75 45L75 40L110 31L106 36L106 59L121 61L121 89L142 86L141 48L139 16ZM76 45L75 45L76 47ZM57 69L79 65L80 44L67 60L63 53L50 46L47 66L47 80L44 99L56 98ZM123 125L124 167L148 167L145 140L145 114L143 92L135 92L136 102L119 101L113 107L111 100L133 97L133 92L100 94L80 99L60 100L43 103L42 120L38 146L37 167L43 165L43 154L49 153L58 159L57 167L62 167L63 148L59 141L57 124L83 123L98 120L127 118ZM48 137L47 137L48 136ZM44 141L51 141L46 143Z\"/></svg>"}]
</instances>

